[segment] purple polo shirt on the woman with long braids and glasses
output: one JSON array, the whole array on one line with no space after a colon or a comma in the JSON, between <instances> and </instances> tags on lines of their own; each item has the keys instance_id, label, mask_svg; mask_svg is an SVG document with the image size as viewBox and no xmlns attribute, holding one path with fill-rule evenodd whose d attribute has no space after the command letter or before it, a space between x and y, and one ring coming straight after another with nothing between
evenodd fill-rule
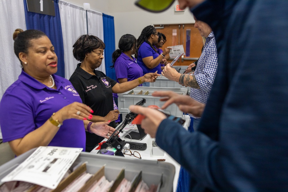
<instances>
[{"instance_id":1,"label":"purple polo shirt on the woman with long braids and glasses","mask_svg":"<svg viewBox=\"0 0 288 192\"><path fill-rule=\"evenodd\" d=\"M149 69L144 63L142 58L145 57L150 57L153 56L153 59L157 58L159 56L158 53L156 53L154 51L154 49L152 49L152 47L144 42L142 43L142 45L139 47L138 50L138 58L137 58L137 63L139 64L139 66L143 69L143 75L145 75L146 73L154 73L155 71L158 71L158 74L161 74L161 66L160 63L159 65L157 65L156 67L154 67L153 69Z\"/></svg>"}]
</instances>

